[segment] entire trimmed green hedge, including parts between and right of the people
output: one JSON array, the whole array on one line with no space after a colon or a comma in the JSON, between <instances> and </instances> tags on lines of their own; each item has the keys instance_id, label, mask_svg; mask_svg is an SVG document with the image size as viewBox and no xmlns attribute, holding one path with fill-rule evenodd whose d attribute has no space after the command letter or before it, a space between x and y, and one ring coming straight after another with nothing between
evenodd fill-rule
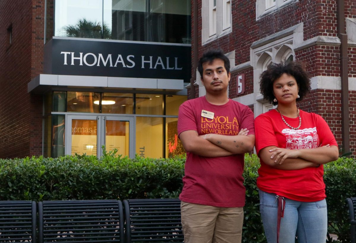
<instances>
[{"instance_id":1,"label":"entire trimmed green hedge, including parts between and right of the people","mask_svg":"<svg viewBox=\"0 0 356 243\"><path fill-rule=\"evenodd\" d=\"M0 200L86 200L177 198L182 188L184 157L117 159L109 153L59 158L0 160ZM256 155L245 155L246 206L243 242L266 242L259 212ZM345 198L356 196L356 164L341 158L325 165L329 233L350 242ZM329 242L331 242L330 240Z\"/></svg>"}]
</instances>

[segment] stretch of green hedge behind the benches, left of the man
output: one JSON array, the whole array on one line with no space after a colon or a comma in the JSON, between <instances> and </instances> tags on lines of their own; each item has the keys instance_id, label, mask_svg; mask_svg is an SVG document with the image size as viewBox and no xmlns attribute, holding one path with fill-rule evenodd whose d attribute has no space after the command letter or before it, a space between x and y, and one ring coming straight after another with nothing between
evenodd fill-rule
<instances>
[{"instance_id":1,"label":"stretch of green hedge behind the benches, left of the man","mask_svg":"<svg viewBox=\"0 0 356 243\"><path fill-rule=\"evenodd\" d=\"M88 200L178 197L184 158L107 156L0 160L0 200Z\"/></svg>"}]
</instances>

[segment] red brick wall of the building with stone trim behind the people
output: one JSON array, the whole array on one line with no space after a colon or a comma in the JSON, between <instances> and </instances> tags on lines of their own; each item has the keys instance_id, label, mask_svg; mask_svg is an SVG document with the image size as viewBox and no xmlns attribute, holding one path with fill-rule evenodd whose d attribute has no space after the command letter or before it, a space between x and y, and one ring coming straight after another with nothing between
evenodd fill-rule
<instances>
[{"instance_id":1,"label":"red brick wall of the building with stone trim behind the people","mask_svg":"<svg viewBox=\"0 0 356 243\"><path fill-rule=\"evenodd\" d=\"M338 78L341 75L340 40L338 38L337 1L333 0L299 0L294 4L281 7L276 12L256 20L256 1L231 1L232 31L216 40L202 46L202 5L208 4L207 0L198 1L198 48L199 55L209 48L221 48L225 53L235 51L235 65L252 62L250 56L251 45L281 32L297 24L303 23L303 35L301 40L308 41L312 38L324 38L329 43L311 43L295 50L296 61L303 62L313 78L326 77ZM192 0L192 19L194 19L194 0ZM356 0L345 2L345 17L356 19ZM193 22L192 22L193 23ZM193 27L192 27L193 30ZM192 33L192 63L194 63L194 34ZM338 41L338 42L337 42ZM204 42L204 41L203 41ZM348 76L356 77L356 46L348 45ZM251 66L252 63L250 63ZM254 92L254 68L247 67L233 73L229 85L229 97L243 97ZM236 94L236 76L245 74L245 93ZM258 78L258 77L257 77ZM355 79L353 79L355 80ZM340 82L340 81L339 81ZM350 82L350 81L349 81ZM255 82L256 83L256 82ZM256 85L256 84L255 84ZM257 87L259 90L259 87ZM255 88L256 90L256 88ZM197 89L196 89L197 92ZM356 91L349 90L349 120L350 120L350 149L356 156ZM198 95L196 95L198 96ZM250 107L253 107L251 104ZM301 109L320 114L328 122L339 145L342 144L341 132L341 90L314 88L303 102L299 104ZM256 113L255 113L256 115Z\"/></svg>"}]
</instances>

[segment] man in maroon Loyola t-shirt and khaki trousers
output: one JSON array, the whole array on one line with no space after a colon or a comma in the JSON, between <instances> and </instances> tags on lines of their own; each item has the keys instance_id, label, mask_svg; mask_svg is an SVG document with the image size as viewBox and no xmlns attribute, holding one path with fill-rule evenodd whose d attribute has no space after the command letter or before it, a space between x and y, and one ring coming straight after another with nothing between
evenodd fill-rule
<instances>
[{"instance_id":1,"label":"man in maroon Loyola t-shirt and khaki trousers","mask_svg":"<svg viewBox=\"0 0 356 243\"><path fill-rule=\"evenodd\" d=\"M255 145L250 108L227 96L230 61L209 50L198 70L206 95L179 107L178 134L187 151L179 198L185 243L241 242L244 153Z\"/></svg>"}]
</instances>

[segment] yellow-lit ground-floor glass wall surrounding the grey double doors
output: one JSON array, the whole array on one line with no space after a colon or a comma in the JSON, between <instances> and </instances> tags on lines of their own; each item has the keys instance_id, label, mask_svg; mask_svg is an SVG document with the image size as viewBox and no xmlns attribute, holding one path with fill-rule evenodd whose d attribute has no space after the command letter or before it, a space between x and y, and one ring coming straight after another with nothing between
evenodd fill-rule
<instances>
[{"instance_id":1,"label":"yellow-lit ground-floor glass wall surrounding the grey double doors","mask_svg":"<svg viewBox=\"0 0 356 243\"><path fill-rule=\"evenodd\" d=\"M177 120L185 100L186 95L54 91L53 96L44 95L43 155L64 155L64 130L74 128L73 123L65 124L65 117L73 113L135 114L136 154L152 158L184 154ZM73 141L72 137L72 146Z\"/></svg>"}]
</instances>

